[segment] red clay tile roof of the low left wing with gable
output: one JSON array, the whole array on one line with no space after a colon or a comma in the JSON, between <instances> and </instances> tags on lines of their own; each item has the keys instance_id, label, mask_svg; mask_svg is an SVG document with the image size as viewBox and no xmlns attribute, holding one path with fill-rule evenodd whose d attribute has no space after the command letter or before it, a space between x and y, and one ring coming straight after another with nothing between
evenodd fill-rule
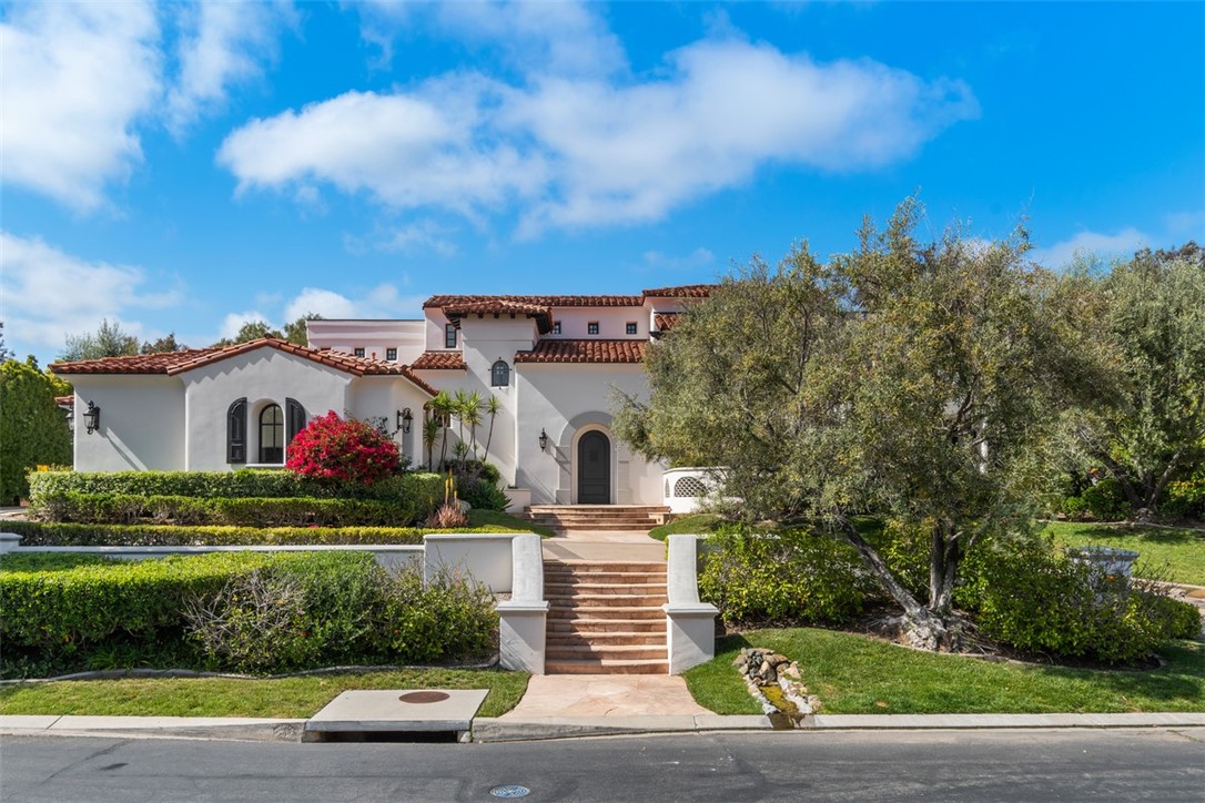
<instances>
[{"instance_id":1,"label":"red clay tile roof of the low left wing with gable","mask_svg":"<svg viewBox=\"0 0 1205 803\"><path fill-rule=\"evenodd\" d=\"M353 356L328 349L313 349L298 346L276 337L263 337L247 343L236 343L207 349L186 349L183 352L163 352L159 354L139 354L135 356L110 356L100 360L80 360L77 362L55 362L51 365L54 373L166 373L176 376L202 365L225 360L257 348L274 348L302 359L345 371L355 377L399 376L405 377L424 392L434 396L435 389L418 378L408 366L400 362L386 362L364 356Z\"/></svg>"}]
</instances>

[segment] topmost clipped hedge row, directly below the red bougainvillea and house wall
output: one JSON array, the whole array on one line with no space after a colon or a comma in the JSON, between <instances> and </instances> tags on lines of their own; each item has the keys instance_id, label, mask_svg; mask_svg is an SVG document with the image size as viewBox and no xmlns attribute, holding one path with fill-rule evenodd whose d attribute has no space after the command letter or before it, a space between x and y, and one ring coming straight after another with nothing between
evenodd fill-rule
<instances>
[{"instance_id":1,"label":"topmost clipped hedge row, directly below the red bougainvillea and house wall","mask_svg":"<svg viewBox=\"0 0 1205 803\"><path fill-rule=\"evenodd\" d=\"M442 501L443 478L431 473L406 473L378 483L333 484L300 477L290 471L243 468L240 471L116 471L35 472L29 477L29 500L47 494L133 494L137 496L193 496L199 498L318 496L381 501Z\"/></svg>"}]
</instances>

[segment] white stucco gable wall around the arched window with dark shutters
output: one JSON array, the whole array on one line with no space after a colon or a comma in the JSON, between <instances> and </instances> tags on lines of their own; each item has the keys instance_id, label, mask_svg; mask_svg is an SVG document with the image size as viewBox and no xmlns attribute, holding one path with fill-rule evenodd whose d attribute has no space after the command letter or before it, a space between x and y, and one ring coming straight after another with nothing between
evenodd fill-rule
<instances>
[{"instance_id":1,"label":"white stucco gable wall around the arched window with dark shutters","mask_svg":"<svg viewBox=\"0 0 1205 803\"><path fill-rule=\"evenodd\" d=\"M307 420L331 409L346 415L352 408L351 374L266 346L178 376L186 391L189 471L242 467L227 462L227 411L237 398L247 398L247 465L258 457L259 412L266 405L283 409L286 397L295 398L305 407Z\"/></svg>"}]
</instances>

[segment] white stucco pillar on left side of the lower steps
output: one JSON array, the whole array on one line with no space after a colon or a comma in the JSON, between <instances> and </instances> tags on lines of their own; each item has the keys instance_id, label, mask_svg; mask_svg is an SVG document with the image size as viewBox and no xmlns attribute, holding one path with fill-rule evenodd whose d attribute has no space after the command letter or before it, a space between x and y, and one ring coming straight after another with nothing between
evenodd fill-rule
<instances>
[{"instance_id":1,"label":"white stucco pillar on left side of the lower steps","mask_svg":"<svg viewBox=\"0 0 1205 803\"><path fill-rule=\"evenodd\" d=\"M543 598L543 547L540 536L511 542L511 598L498 603L499 662L507 669L545 673L548 603Z\"/></svg>"}]
</instances>

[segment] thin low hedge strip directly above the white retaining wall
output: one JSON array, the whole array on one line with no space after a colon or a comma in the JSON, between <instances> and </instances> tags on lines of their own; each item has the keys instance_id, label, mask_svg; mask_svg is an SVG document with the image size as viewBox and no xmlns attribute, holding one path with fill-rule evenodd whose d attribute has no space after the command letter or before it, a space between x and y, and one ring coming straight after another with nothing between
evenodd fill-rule
<instances>
[{"instance_id":1,"label":"thin low hedge strip directly above the white retaining wall","mask_svg":"<svg viewBox=\"0 0 1205 803\"><path fill-rule=\"evenodd\" d=\"M6 521L4 527L22 537L22 547L398 545L421 544L424 535L439 532L418 527L216 527L40 521ZM489 525L460 527L455 532L513 532L513 529Z\"/></svg>"}]
</instances>

